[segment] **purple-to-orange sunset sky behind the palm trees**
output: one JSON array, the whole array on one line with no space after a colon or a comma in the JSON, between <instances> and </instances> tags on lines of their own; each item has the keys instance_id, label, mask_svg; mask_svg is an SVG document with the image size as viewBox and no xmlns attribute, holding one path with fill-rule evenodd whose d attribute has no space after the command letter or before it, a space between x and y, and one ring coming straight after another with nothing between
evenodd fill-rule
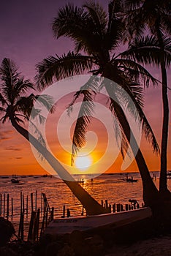
<instances>
[{"instance_id":1,"label":"purple-to-orange sunset sky behind the palm trees","mask_svg":"<svg viewBox=\"0 0 171 256\"><path fill-rule=\"evenodd\" d=\"M81 5L83 1L74 1L75 4ZM99 1L106 7L107 1ZM68 0L63 1L3 1L0 10L0 61L10 58L18 64L20 72L25 75L25 78L33 80L36 74L35 65L42 61L47 56L57 53L67 53L73 49L73 44L69 39L61 38L55 39L51 31L51 23L56 16L59 7L63 7L68 3ZM160 79L159 69L149 70L153 76ZM170 70L168 70L168 78L171 80ZM170 83L171 87L171 83ZM168 91L169 100L170 92ZM68 99L68 103L71 98ZM58 106L61 106L60 101ZM61 113L61 109L58 108ZM156 138L161 143L161 122L162 122L162 108L161 108L161 86L155 89L145 89L145 114L153 128ZM50 117L50 124L54 123L54 116ZM94 122L94 125L100 127L101 124ZM170 126L171 127L171 126ZM169 128L170 128L169 127ZM94 129L91 124L91 129ZM96 162L98 156L104 154L104 144L106 140L105 128L101 127L97 132L97 138L101 139L99 149L93 156L93 161ZM102 132L101 132L102 130ZM57 142L54 142L53 132L49 129L48 136L53 141L54 154L58 155L60 159L68 163L70 161L69 154L62 151ZM171 138L168 143L168 170L171 170ZM159 156L153 154L149 143L142 138L141 141L142 153L150 170L159 170ZM58 152L58 153L57 153ZM95 156L96 155L96 156ZM58 157L57 156L57 157ZM111 156L109 155L107 159ZM119 155L115 164L110 167L108 172L121 171L122 158ZM105 162L104 162L105 165ZM102 166L101 166L102 168ZM137 171L135 162L124 171ZM22 138L10 123L0 124L0 175L4 174L31 174L31 173L45 173L45 170L37 163L34 154L31 151L30 144Z\"/></svg>"}]
</instances>

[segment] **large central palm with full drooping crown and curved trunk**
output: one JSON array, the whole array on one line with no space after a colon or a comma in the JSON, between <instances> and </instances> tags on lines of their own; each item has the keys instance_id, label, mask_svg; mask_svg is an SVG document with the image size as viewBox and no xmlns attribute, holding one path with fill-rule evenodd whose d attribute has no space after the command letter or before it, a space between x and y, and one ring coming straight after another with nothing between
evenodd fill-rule
<instances>
[{"instance_id":1,"label":"large central palm with full drooping crown and curved trunk","mask_svg":"<svg viewBox=\"0 0 171 256\"><path fill-rule=\"evenodd\" d=\"M64 8L61 8L58 11L57 17L53 20L53 33L57 38L64 36L72 39L75 42L75 51L63 56L50 56L37 64L37 84L39 89L44 89L53 80L80 75L84 72L102 75L104 78L113 80L121 86L123 91L129 94L140 115L145 138L148 138L151 142L154 151L159 151L153 131L141 108L142 90L139 78L143 78L145 84L148 84L149 80L156 83L156 80L140 64L129 59L121 59L119 55L117 56L117 47L122 42L124 34L121 13L121 5L117 0L110 1L108 16L107 12L93 1L86 3L83 7L66 4ZM73 138L74 151L77 151L83 145L86 127L90 121L86 113L92 107L90 105L91 94L87 85L85 86L75 96L77 98L80 94L83 95L83 102L86 101L87 97L89 105L87 110L83 110L85 115L77 120ZM121 105L113 100L116 97L115 86L110 85L110 83L104 83L103 86L109 95L110 110L113 111L118 119L122 134L124 135L124 145L128 145L132 131ZM92 91L94 91L94 88ZM137 148L134 135L132 135L132 138L135 148ZM134 151L134 148L132 150ZM158 190L153 184L140 148L134 157L142 177L143 199L147 205L152 206L155 202L154 199L158 198Z\"/></svg>"}]
</instances>

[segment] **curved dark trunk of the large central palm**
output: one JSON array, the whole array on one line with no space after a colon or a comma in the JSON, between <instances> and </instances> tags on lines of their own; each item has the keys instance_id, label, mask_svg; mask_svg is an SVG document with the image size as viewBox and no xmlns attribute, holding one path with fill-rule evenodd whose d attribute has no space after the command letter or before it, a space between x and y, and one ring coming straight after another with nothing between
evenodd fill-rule
<instances>
[{"instance_id":1,"label":"curved dark trunk of the large central palm","mask_svg":"<svg viewBox=\"0 0 171 256\"><path fill-rule=\"evenodd\" d=\"M109 85L106 86L106 90L110 96L110 99L115 99L115 96L113 95L113 89L110 89ZM127 140L130 141L130 138L132 137L132 145L130 146L132 147L132 151L140 171L140 176L142 178L143 200L145 205L151 206L153 208L153 206L156 206L156 201L159 200L159 191L156 189L156 186L152 181L148 167L145 163L145 159L142 156L142 152L140 151L139 146L137 145L137 141L134 138L132 130L129 127L129 123L121 106L118 105L117 102L113 102L113 105L115 106L115 113L117 113L118 120L121 124L121 127L123 128Z\"/></svg>"}]
</instances>

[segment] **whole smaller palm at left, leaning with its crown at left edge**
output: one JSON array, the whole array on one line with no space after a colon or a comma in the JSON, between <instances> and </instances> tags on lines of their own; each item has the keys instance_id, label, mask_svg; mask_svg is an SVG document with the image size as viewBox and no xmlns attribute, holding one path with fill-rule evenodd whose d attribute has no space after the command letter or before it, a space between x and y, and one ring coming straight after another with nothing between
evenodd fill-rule
<instances>
[{"instance_id":1,"label":"whole smaller palm at left, leaning with its crown at left edge","mask_svg":"<svg viewBox=\"0 0 171 256\"><path fill-rule=\"evenodd\" d=\"M24 124L24 121L29 121L32 110L34 110L34 114L37 113L39 120L43 121L43 116L41 116L39 109L34 109L34 102L36 100L44 105L47 110L53 112L52 98L47 95L39 96L30 94L26 96L28 90L34 89L34 86L29 80L24 80L23 76L18 73L18 67L10 59L3 59L0 67L0 78L1 122L4 124L5 121L9 120L20 135L26 138L39 151L42 157L47 160L56 173L63 179L64 183L71 189L77 199L80 200L83 207L86 208L87 214L107 213L108 210L103 208L83 187L77 184L74 178L53 157L53 154L50 154L45 146L45 141L41 137L41 133L37 130L39 138L36 138L21 126L21 124Z\"/></svg>"}]
</instances>

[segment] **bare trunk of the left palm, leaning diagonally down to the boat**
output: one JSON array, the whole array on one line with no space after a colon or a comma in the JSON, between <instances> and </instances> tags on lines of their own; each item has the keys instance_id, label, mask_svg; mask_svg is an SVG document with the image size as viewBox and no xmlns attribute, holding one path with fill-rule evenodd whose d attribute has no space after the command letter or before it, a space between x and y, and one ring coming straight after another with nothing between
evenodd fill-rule
<instances>
[{"instance_id":1,"label":"bare trunk of the left palm, leaning diagonally down to the boat","mask_svg":"<svg viewBox=\"0 0 171 256\"><path fill-rule=\"evenodd\" d=\"M39 151L40 154L42 154L43 157L47 160L47 162L53 167L54 170L56 170L56 173L58 173L58 176L64 181L64 183L71 189L72 193L77 197L78 200L80 200L80 203L83 204L83 207L86 208L86 213L88 215L94 215L94 214L106 214L109 212L107 208L103 208L91 195L86 192L83 187L78 184L72 176L64 169L64 167L56 160L55 157L53 157L52 154L50 154L49 151L47 151L47 148L42 146L39 141L37 141L34 136L29 134L29 132L24 129L23 127L20 127L20 125L15 121L15 118L10 117L12 126L15 127L15 129L20 133L20 135L23 135L26 140L28 140L34 148Z\"/></svg>"}]
</instances>

